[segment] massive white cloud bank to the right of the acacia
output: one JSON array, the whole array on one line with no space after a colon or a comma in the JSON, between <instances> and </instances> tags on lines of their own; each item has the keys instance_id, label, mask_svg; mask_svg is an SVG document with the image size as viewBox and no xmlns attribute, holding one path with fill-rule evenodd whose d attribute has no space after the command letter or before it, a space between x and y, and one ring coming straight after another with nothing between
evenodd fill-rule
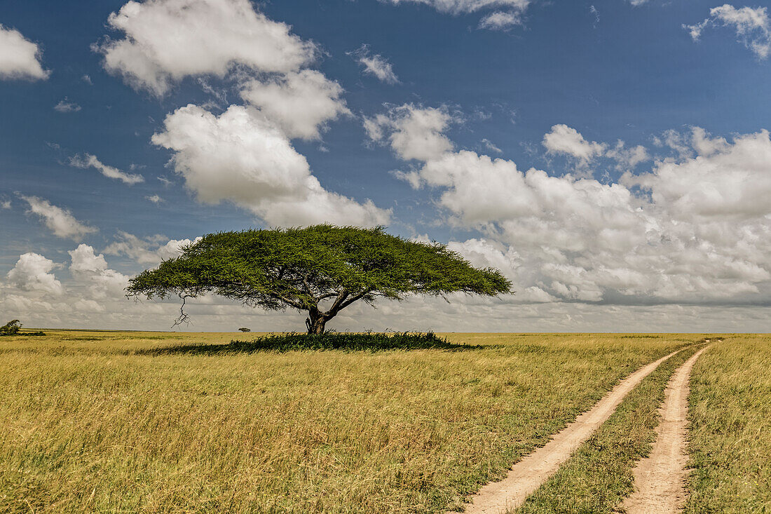
<instances>
[{"instance_id":1,"label":"massive white cloud bank to the right of the acacia","mask_svg":"<svg viewBox=\"0 0 771 514\"><path fill-rule=\"evenodd\" d=\"M387 141L398 157L422 161L402 178L438 192L446 222L483 234L452 245L480 265L504 270L524 292L520 299L771 303L766 130L728 142L697 127L682 137L692 155L659 159L648 172L626 172L604 184L453 150L440 113L397 107L376 117L369 134ZM433 150L416 154L403 144L405 137L431 140ZM544 137L544 146L586 164L618 148L564 125Z\"/></svg>"}]
</instances>

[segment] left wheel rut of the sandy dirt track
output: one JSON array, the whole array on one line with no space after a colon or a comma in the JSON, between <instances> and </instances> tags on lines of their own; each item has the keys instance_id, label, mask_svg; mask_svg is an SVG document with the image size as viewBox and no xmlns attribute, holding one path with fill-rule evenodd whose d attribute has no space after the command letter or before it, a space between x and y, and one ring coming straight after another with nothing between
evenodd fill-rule
<instances>
[{"instance_id":1,"label":"left wheel rut of the sandy dirt track","mask_svg":"<svg viewBox=\"0 0 771 514\"><path fill-rule=\"evenodd\" d=\"M547 478L557 472L578 446L586 441L616 410L624 397L640 381L677 352L670 353L629 375L606 394L591 411L584 412L576 421L554 435L543 448L527 455L511 468L500 482L485 485L466 505L467 514L502 514L524 502Z\"/></svg>"}]
</instances>

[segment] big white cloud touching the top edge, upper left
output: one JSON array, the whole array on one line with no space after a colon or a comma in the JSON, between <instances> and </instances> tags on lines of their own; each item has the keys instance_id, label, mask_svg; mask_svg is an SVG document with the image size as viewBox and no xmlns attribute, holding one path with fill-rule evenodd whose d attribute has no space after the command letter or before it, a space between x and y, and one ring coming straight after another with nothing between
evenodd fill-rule
<instances>
[{"instance_id":1,"label":"big white cloud touching the top edge, upper left","mask_svg":"<svg viewBox=\"0 0 771 514\"><path fill-rule=\"evenodd\" d=\"M107 23L125 36L94 46L105 69L157 95L186 76L224 77L234 66L295 72L317 54L312 42L255 12L249 0L132 1Z\"/></svg>"}]
</instances>

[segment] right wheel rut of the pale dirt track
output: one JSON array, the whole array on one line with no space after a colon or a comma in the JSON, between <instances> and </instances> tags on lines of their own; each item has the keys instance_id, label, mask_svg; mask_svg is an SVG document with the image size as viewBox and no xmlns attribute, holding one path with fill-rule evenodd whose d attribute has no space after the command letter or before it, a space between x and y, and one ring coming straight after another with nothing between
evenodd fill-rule
<instances>
[{"instance_id":1,"label":"right wheel rut of the pale dirt track","mask_svg":"<svg viewBox=\"0 0 771 514\"><path fill-rule=\"evenodd\" d=\"M691 370L706 350L702 348L675 371L667 384L662 421L656 428L651 455L635 468L635 492L626 499L628 514L678 512L685 502L685 436L688 430L688 394Z\"/></svg>"}]
</instances>

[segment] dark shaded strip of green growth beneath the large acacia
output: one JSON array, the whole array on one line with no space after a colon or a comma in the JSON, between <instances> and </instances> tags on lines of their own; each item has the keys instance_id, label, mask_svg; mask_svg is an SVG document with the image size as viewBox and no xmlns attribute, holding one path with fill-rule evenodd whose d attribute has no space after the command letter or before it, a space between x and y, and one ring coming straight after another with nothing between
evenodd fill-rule
<instances>
[{"instance_id":1,"label":"dark shaded strip of green growth beneath the large acacia","mask_svg":"<svg viewBox=\"0 0 771 514\"><path fill-rule=\"evenodd\" d=\"M251 341L228 344L180 345L150 350L148 353L252 353L291 351L377 352L386 350L474 350L483 346L449 343L446 338L429 333L284 333L258 337Z\"/></svg>"}]
</instances>

